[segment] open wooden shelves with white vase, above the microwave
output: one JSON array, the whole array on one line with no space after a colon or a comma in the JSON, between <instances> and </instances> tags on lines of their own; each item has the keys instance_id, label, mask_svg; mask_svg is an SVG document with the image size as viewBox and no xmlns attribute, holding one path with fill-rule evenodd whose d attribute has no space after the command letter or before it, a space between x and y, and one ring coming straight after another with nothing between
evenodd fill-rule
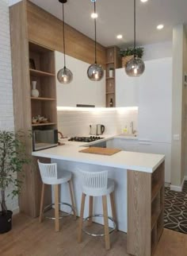
<instances>
[{"instance_id":1,"label":"open wooden shelves with white vase, above the microwave","mask_svg":"<svg viewBox=\"0 0 187 256\"><path fill-rule=\"evenodd\" d=\"M32 129L55 129L57 127L56 88L55 88L55 53L40 45L29 42L29 60L34 68L29 68L30 83L36 81L39 97L30 97L31 116L48 118L46 123L32 123ZM32 85L31 88L32 90Z\"/></svg>"}]
</instances>

